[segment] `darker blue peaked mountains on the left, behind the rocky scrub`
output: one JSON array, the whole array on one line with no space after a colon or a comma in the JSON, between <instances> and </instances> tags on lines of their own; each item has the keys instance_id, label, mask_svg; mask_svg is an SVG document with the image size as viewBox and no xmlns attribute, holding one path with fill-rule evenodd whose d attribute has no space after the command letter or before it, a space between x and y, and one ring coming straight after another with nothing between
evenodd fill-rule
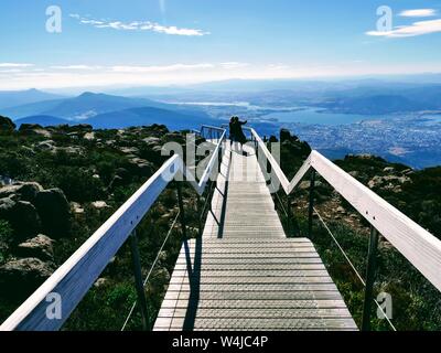
<instances>
[{"instance_id":1,"label":"darker blue peaked mountains on the left, behind the rocky scrub","mask_svg":"<svg viewBox=\"0 0 441 353\"><path fill-rule=\"evenodd\" d=\"M3 108L0 115L11 117L18 127L21 124L56 126L82 122L90 124L94 128L111 129L163 124L181 130L203 124L219 124L194 107L94 93Z\"/></svg>"}]
</instances>

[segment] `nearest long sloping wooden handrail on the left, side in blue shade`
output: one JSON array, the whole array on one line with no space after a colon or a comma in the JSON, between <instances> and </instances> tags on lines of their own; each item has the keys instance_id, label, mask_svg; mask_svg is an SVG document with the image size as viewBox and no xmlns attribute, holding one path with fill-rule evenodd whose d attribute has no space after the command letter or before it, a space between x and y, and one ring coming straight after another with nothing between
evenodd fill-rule
<instances>
[{"instance_id":1,"label":"nearest long sloping wooden handrail on the left, side in blue shade","mask_svg":"<svg viewBox=\"0 0 441 353\"><path fill-rule=\"evenodd\" d=\"M0 330L58 330L180 170L182 170L181 158L174 156L169 159L3 322ZM51 295L61 299L61 319L51 320L46 315Z\"/></svg>"}]
</instances>

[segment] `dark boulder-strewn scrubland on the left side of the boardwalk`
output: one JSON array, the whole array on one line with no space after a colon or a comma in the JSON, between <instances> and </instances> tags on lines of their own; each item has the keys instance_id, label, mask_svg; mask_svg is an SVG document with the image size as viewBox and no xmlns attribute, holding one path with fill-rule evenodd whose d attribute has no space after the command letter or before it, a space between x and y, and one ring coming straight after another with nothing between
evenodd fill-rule
<instances>
[{"instance_id":1,"label":"dark boulder-strewn scrubland on the left side of the boardwalk","mask_svg":"<svg viewBox=\"0 0 441 353\"><path fill-rule=\"evenodd\" d=\"M153 175L168 158L161 151L170 141L184 145L185 135L161 125L118 130L93 130L87 125L17 127L0 117L0 321ZM191 233L197 224L196 197L186 188L184 194ZM143 270L176 213L175 190L170 188L139 227ZM180 248L178 235L169 243L148 289L154 292L152 302L159 301ZM127 313L135 298L128 248L109 264L78 314L73 314L71 328L77 329L75 318L97 304L88 302L95 300L95 291L117 301L109 323L104 319L96 328L119 324L118 315Z\"/></svg>"}]
</instances>

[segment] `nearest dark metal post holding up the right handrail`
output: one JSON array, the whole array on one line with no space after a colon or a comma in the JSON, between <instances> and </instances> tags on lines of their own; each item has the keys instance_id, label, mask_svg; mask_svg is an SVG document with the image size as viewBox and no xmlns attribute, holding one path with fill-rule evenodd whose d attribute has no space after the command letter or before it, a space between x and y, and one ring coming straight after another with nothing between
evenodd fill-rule
<instances>
[{"instance_id":1,"label":"nearest dark metal post holding up the right handrail","mask_svg":"<svg viewBox=\"0 0 441 353\"><path fill-rule=\"evenodd\" d=\"M370 227L369 249L367 254L365 299L363 303L362 331L370 331L370 308L374 299L378 237L378 231L375 227Z\"/></svg>"}]
</instances>

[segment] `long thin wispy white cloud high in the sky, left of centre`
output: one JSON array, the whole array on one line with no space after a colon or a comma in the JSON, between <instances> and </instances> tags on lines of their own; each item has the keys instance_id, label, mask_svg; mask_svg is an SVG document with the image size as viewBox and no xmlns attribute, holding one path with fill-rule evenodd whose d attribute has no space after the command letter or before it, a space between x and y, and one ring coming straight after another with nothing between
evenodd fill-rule
<instances>
[{"instance_id":1,"label":"long thin wispy white cloud high in the sky, left of centre","mask_svg":"<svg viewBox=\"0 0 441 353\"><path fill-rule=\"evenodd\" d=\"M204 32L202 30L183 29L183 28L178 28L175 25L166 26L150 21L132 21L125 23L121 21L94 20L94 19L83 18L79 14L75 13L71 14L71 18L77 19L82 24L89 24L97 29L114 29L117 31L151 31L170 35L185 35L185 36L203 36L211 34L209 32Z\"/></svg>"}]
</instances>

